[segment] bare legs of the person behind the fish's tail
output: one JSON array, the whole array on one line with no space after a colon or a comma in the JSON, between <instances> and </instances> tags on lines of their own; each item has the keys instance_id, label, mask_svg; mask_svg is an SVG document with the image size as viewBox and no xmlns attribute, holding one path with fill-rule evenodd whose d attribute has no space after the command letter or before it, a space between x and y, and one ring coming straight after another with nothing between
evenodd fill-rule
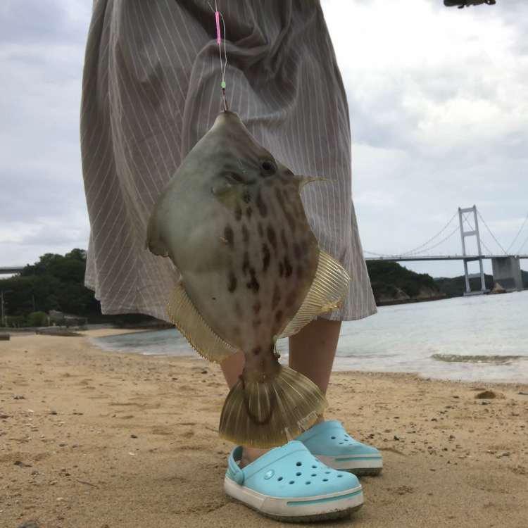
<instances>
[{"instance_id":1,"label":"bare legs of the person behind the fish's tail","mask_svg":"<svg viewBox=\"0 0 528 528\"><path fill-rule=\"evenodd\" d=\"M340 321L316 319L289 338L289 366L311 379L322 394L326 394L328 388L340 330ZM244 361L244 354L239 352L220 364L230 389L241 374ZM324 419L320 416L315 423L322 421ZM269 449L245 447L240 467L248 465L267 451Z\"/></svg>"}]
</instances>

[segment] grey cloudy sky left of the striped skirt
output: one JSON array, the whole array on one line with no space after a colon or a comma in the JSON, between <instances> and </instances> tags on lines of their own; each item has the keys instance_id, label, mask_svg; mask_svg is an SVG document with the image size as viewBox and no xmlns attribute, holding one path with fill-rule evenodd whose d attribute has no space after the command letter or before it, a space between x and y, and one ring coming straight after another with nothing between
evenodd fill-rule
<instances>
[{"instance_id":1,"label":"grey cloudy sky left of the striped skirt","mask_svg":"<svg viewBox=\"0 0 528 528\"><path fill-rule=\"evenodd\" d=\"M87 246L79 103L86 1L0 6L2 263Z\"/></svg>"}]
</instances>

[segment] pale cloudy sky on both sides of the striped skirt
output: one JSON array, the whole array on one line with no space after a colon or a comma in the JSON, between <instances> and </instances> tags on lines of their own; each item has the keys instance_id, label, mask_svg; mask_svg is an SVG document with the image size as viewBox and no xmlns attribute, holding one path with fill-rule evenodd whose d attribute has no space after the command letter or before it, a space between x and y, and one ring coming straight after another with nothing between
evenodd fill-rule
<instances>
[{"instance_id":1,"label":"pale cloudy sky on both sides of the striped skirt","mask_svg":"<svg viewBox=\"0 0 528 528\"><path fill-rule=\"evenodd\" d=\"M474 204L484 253L526 241L528 254L528 1L322 7L348 96L365 256L432 246ZM91 11L91 0L0 3L0 267L87 248L78 130ZM435 251L460 254L460 235ZM405 265L463 274L460 261Z\"/></svg>"}]
</instances>

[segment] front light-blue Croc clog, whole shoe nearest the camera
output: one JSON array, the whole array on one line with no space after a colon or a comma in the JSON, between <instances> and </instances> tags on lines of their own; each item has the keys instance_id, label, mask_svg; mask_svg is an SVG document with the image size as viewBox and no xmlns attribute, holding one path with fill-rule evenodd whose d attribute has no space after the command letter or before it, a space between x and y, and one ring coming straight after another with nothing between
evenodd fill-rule
<instances>
[{"instance_id":1,"label":"front light-blue Croc clog, whole shoe nearest the camera","mask_svg":"<svg viewBox=\"0 0 528 528\"><path fill-rule=\"evenodd\" d=\"M330 469L301 442L276 447L240 469L242 447L227 460L224 491L275 520L306 522L337 519L359 510L363 491L350 473Z\"/></svg>"}]
</instances>

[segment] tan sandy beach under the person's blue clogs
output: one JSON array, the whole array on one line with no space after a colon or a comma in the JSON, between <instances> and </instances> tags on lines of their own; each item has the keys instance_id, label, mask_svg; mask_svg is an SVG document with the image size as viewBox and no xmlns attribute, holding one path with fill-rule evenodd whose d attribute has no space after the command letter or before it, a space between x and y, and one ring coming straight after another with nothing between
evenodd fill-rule
<instances>
[{"instance_id":1,"label":"tan sandy beach under the person's blue clogs","mask_svg":"<svg viewBox=\"0 0 528 528\"><path fill-rule=\"evenodd\" d=\"M217 433L217 365L86 337L0 341L1 527L280 525L222 491L232 446ZM327 418L380 448L384 470L361 479L356 515L316 526L528 525L527 385L337 372L327 397Z\"/></svg>"}]
</instances>

